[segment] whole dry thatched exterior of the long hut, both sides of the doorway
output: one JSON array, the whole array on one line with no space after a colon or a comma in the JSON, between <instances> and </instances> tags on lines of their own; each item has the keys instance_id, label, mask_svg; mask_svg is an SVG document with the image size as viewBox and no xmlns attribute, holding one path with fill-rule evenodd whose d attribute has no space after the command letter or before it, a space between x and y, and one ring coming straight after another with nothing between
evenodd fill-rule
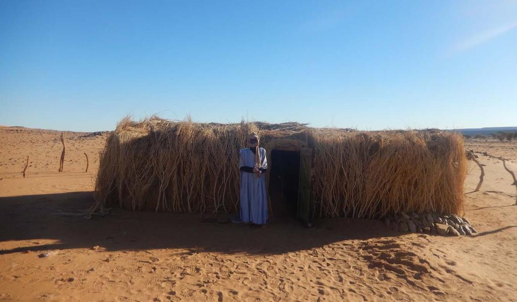
<instances>
[{"instance_id":1,"label":"whole dry thatched exterior of the long hut, both sides of the doorway","mask_svg":"<svg viewBox=\"0 0 517 302\"><path fill-rule=\"evenodd\" d=\"M461 135L439 131L360 132L298 123L202 124L156 117L119 122L100 156L95 197L130 210L238 209L239 149L248 133L273 149L316 150L317 216L457 213L466 158ZM268 157L269 167L275 165Z\"/></svg>"}]
</instances>

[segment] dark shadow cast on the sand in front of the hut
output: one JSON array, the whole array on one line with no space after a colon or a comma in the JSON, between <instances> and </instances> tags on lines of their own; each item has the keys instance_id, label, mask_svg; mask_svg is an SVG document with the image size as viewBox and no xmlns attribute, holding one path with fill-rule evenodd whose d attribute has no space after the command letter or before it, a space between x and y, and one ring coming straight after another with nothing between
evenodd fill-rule
<instances>
[{"instance_id":1,"label":"dark shadow cast on the sand in front of the hut","mask_svg":"<svg viewBox=\"0 0 517 302\"><path fill-rule=\"evenodd\" d=\"M0 198L0 241L22 241L1 254L52 249L186 249L224 253L278 254L343 240L398 236L378 220L321 219L307 229L296 220L273 217L266 228L204 222L201 214L112 211L115 215L59 216L86 210L92 192ZM53 241L53 243L45 243ZM55 243L57 241L57 243Z\"/></svg>"}]
</instances>

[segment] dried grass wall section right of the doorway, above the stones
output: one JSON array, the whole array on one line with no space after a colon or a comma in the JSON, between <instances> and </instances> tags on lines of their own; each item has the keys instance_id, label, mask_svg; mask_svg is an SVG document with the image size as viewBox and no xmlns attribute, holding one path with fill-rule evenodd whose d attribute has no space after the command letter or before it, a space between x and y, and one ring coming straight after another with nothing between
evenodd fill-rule
<instances>
[{"instance_id":1,"label":"dried grass wall section right of the doorway, above the stones","mask_svg":"<svg viewBox=\"0 0 517 302\"><path fill-rule=\"evenodd\" d=\"M463 210L466 158L454 133L312 131L313 190L320 216Z\"/></svg>"}]
</instances>

